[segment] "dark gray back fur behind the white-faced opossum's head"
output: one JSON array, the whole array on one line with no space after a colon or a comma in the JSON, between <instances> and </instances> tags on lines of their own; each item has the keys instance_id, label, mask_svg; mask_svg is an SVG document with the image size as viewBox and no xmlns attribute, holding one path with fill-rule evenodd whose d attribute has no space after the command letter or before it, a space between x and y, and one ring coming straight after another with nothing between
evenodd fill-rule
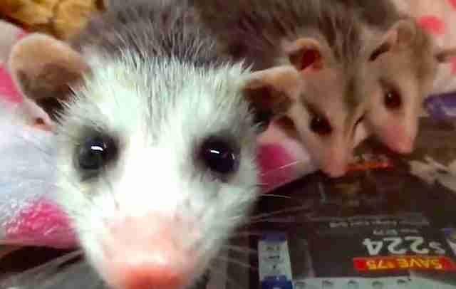
<instances>
[{"instance_id":1,"label":"dark gray back fur behind the white-faced opossum's head","mask_svg":"<svg viewBox=\"0 0 456 289\"><path fill-rule=\"evenodd\" d=\"M70 43L78 51L95 47L112 56L129 51L138 56L173 56L194 65L219 63L214 38L197 22L186 1L128 0L128 5L109 1L108 10Z\"/></svg>"}]
</instances>

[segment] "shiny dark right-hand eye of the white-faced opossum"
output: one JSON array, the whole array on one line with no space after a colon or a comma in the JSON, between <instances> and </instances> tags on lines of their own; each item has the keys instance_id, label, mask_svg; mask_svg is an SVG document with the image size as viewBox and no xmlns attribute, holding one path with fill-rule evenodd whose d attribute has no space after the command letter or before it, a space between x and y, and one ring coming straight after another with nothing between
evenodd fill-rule
<instances>
[{"instance_id":1,"label":"shiny dark right-hand eye of the white-faced opossum","mask_svg":"<svg viewBox=\"0 0 456 289\"><path fill-rule=\"evenodd\" d=\"M199 158L204 166L221 177L237 172L239 149L227 140L210 137L202 143Z\"/></svg>"}]
</instances>

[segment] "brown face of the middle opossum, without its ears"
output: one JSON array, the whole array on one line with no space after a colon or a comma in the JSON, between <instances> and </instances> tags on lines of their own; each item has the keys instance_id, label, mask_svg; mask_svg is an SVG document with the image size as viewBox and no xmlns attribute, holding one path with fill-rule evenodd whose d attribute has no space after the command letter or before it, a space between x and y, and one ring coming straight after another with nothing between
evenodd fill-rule
<instances>
[{"instance_id":1,"label":"brown face of the middle opossum, without its ears","mask_svg":"<svg viewBox=\"0 0 456 289\"><path fill-rule=\"evenodd\" d=\"M312 157L331 177L346 173L355 145L355 132L362 121L366 105L350 104L361 88L356 80L346 80L331 68L309 73L306 85L289 115ZM353 105L353 106L351 106Z\"/></svg>"}]
</instances>

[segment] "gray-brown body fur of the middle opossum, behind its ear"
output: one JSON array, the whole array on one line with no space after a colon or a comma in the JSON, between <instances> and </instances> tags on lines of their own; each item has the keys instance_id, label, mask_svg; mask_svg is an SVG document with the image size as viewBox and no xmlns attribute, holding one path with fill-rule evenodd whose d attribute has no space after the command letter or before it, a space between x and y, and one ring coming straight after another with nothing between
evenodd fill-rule
<instances>
[{"instance_id":1,"label":"gray-brown body fur of the middle opossum, behind its ear","mask_svg":"<svg viewBox=\"0 0 456 289\"><path fill-rule=\"evenodd\" d=\"M363 48L357 14L335 0L193 0L202 21L227 43L229 55L247 58L257 69L282 57L280 40L316 37L333 49L345 70ZM223 13L220 13L223 11Z\"/></svg>"}]
</instances>

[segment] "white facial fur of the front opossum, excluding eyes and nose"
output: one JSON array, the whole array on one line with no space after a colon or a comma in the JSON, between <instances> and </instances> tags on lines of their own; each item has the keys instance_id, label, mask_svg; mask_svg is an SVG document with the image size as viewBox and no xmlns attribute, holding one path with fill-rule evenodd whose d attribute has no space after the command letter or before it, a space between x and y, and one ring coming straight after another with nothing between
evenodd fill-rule
<instances>
[{"instance_id":1,"label":"white facial fur of the front opossum, excluding eyes and nose","mask_svg":"<svg viewBox=\"0 0 456 289\"><path fill-rule=\"evenodd\" d=\"M202 258L190 278L202 273L256 196L255 128L241 101L247 74L241 65L208 69L150 58L134 68L133 61L135 56L127 54L116 60L92 58L93 75L74 88L77 98L59 127L63 191L57 199L102 274L109 262L102 243L113 238L109 226L127 217L180 216L194 226L175 232L175 241L181 246L202 242L197 247ZM74 167L86 126L120 138L120 159L93 182L81 182ZM197 144L219 133L235 137L242 149L239 172L227 183L195 163ZM159 226L151 219L144 230L153 234Z\"/></svg>"}]
</instances>

